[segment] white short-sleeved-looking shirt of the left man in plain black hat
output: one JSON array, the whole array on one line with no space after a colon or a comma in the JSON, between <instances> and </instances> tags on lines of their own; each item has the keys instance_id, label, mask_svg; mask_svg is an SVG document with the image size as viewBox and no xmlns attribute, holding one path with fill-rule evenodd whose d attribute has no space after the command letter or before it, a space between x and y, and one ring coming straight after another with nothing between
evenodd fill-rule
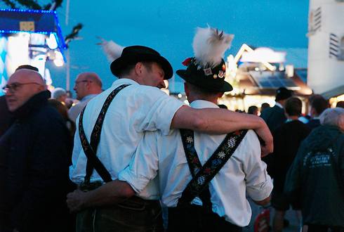
<instances>
[{"instance_id":1,"label":"white short-sleeved-looking shirt of the left man in plain black hat","mask_svg":"<svg viewBox=\"0 0 344 232\"><path fill-rule=\"evenodd\" d=\"M131 86L119 91L110 104L102 124L97 150L98 158L110 172L112 179L117 179L118 172L128 166L145 131L159 130L161 134L168 134L173 115L183 105L181 101L155 87L143 86L131 79L118 79L110 89L95 96L86 106L83 125L88 141L105 99L121 84L131 84ZM78 124L79 117L77 127ZM77 129L70 167L70 179L74 183L79 184L84 181L86 160ZM93 171L91 181L101 180L98 173ZM157 198L157 196L147 196L147 198Z\"/></svg>"}]
</instances>

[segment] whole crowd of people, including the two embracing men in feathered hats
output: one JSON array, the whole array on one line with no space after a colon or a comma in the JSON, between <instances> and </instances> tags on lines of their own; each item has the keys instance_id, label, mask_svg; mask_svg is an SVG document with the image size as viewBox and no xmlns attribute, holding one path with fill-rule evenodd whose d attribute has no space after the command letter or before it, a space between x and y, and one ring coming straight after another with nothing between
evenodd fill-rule
<instances>
[{"instance_id":1,"label":"whole crowd of people, including the two embracing men in feathered hats","mask_svg":"<svg viewBox=\"0 0 344 232\"><path fill-rule=\"evenodd\" d=\"M0 232L242 231L248 199L271 204L272 231L290 206L303 231L344 231L344 109L313 95L302 115L284 87L260 117L217 105L232 91L232 39L197 29L176 71L190 106L159 90L173 69L147 46L115 44L118 79L102 90L97 74L79 74L77 103L18 67L0 97Z\"/></svg>"}]
</instances>

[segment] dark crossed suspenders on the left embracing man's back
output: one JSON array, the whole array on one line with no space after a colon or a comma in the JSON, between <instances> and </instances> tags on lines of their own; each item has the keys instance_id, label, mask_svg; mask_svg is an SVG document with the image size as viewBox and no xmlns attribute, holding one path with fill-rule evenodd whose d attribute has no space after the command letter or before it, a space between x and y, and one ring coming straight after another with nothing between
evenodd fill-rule
<instances>
[{"instance_id":1,"label":"dark crossed suspenders on the left embracing man's back","mask_svg":"<svg viewBox=\"0 0 344 232\"><path fill-rule=\"evenodd\" d=\"M87 157L87 163L86 163L86 176L85 176L85 183L89 183L91 179L91 175L93 172L93 169L98 172L100 177L103 181L109 182L112 181L110 173L107 171L105 166L100 162L99 158L97 157L96 152L98 148L98 144L100 141L100 133L102 130L102 123L104 122L105 114L107 112L107 109L110 106L110 103L114 99L114 97L121 91L122 89L126 88L126 86L129 86L130 84L122 84L121 86L118 86L116 89L114 89L109 96L107 96L104 105L102 105L102 109L100 110L100 113L98 115L97 120L95 121L95 125L92 130L91 134L91 144L88 143L87 137L84 131L83 127L83 117L84 117L84 111L86 109L86 106L80 113L79 117L79 136L82 148L84 150L84 153Z\"/></svg>"}]
</instances>

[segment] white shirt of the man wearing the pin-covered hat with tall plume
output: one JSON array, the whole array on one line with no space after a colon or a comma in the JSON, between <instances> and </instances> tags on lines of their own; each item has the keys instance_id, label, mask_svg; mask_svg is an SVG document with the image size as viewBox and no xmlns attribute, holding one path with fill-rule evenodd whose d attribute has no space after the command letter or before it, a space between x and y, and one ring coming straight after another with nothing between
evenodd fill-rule
<instances>
[{"instance_id":1,"label":"white shirt of the man wearing the pin-covered hat with tall plume","mask_svg":"<svg viewBox=\"0 0 344 232\"><path fill-rule=\"evenodd\" d=\"M218 108L209 101L194 101L190 106ZM202 165L224 138L225 135L210 136L194 132L194 148ZM163 205L176 207L187 183L192 179L179 130L173 130L168 136L159 131L146 132L131 164L119 173L119 179L127 181L141 194L141 191L147 191L147 183L156 178L158 173L159 186L155 190L150 186L148 191L160 190ZM254 131L247 132L209 186L213 212L232 224L247 226L251 219L251 207L246 200L246 193L258 201L267 198L272 191L272 181L267 175L265 163L260 160L260 143Z\"/></svg>"}]
</instances>

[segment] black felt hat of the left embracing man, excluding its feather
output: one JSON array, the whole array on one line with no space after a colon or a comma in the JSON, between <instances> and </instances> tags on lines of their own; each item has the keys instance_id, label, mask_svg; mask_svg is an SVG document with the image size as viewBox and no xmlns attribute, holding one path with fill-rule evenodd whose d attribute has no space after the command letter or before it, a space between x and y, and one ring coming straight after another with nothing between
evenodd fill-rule
<instances>
[{"instance_id":1,"label":"black felt hat of the left embracing man, excluding its feather","mask_svg":"<svg viewBox=\"0 0 344 232\"><path fill-rule=\"evenodd\" d=\"M154 49L139 45L125 47L121 56L112 61L110 69L112 74L118 77L125 67L142 61L154 61L161 65L165 72L164 79L170 79L173 75L172 66L166 58L160 56Z\"/></svg>"}]
</instances>

